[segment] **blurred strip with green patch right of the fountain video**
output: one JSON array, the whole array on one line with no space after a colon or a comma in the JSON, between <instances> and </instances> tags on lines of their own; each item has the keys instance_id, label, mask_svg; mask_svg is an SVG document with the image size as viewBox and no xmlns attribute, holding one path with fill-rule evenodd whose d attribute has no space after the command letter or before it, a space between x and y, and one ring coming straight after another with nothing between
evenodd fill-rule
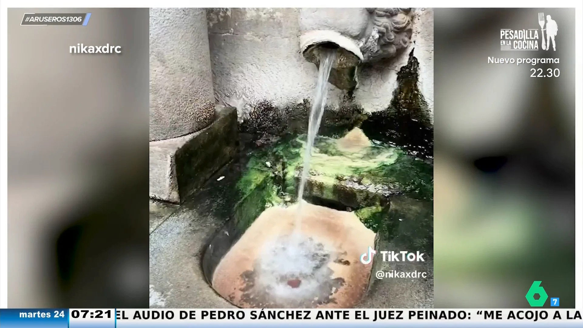
<instances>
[{"instance_id":1,"label":"blurred strip with green patch right of the fountain video","mask_svg":"<svg viewBox=\"0 0 583 328\"><path fill-rule=\"evenodd\" d=\"M539 12L559 26L557 51L501 51L500 29L540 34ZM537 280L574 308L575 10L434 15L434 306L529 308ZM560 76L531 78L531 68Z\"/></svg>"}]
</instances>

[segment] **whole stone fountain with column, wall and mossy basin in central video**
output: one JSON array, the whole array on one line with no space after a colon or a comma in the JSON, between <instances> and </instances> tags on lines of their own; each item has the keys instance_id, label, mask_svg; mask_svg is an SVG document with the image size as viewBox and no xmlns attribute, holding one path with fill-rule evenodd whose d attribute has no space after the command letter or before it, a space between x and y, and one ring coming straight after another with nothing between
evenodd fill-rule
<instances>
[{"instance_id":1,"label":"whole stone fountain with column, wall and mossy basin in central video","mask_svg":"<svg viewBox=\"0 0 583 328\"><path fill-rule=\"evenodd\" d=\"M386 288L415 289L394 307L431 306L431 282L371 292L371 271L383 264L359 257L369 246L400 247L392 240L430 218L432 152L417 158L401 144L378 141L390 137L385 121L403 113L423 131L431 128L433 44L423 24L433 13L151 12L150 197L177 204L151 219L151 306L390 307ZM174 25L178 19L187 24ZM296 217L319 52L331 48L338 56L306 184L306 238L290 253L278 245ZM297 265L285 261L294 256Z\"/></svg>"}]
</instances>

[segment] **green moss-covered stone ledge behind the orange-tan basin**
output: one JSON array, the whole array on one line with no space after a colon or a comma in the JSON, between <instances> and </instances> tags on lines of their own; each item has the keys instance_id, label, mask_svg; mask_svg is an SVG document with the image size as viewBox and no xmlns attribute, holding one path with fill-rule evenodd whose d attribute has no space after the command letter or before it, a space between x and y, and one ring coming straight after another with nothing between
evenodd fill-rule
<instances>
[{"instance_id":1,"label":"green moss-covered stone ledge behind the orange-tan basin","mask_svg":"<svg viewBox=\"0 0 583 328\"><path fill-rule=\"evenodd\" d=\"M297 201L305 136L282 139L258 151L239 181L236 219L246 229L266 208ZM371 143L360 130L345 138L318 137L304 199L337 210L356 211L375 232L394 236L393 197L433 201L433 166L387 145ZM396 198L395 198L396 199Z\"/></svg>"}]
</instances>

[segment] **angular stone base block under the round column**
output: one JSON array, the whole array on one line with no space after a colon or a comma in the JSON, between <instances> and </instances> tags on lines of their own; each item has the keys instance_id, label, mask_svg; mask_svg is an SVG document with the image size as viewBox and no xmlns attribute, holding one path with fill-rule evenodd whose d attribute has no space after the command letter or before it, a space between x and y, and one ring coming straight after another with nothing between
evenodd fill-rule
<instances>
[{"instance_id":1,"label":"angular stone base block under the round column","mask_svg":"<svg viewBox=\"0 0 583 328\"><path fill-rule=\"evenodd\" d=\"M216 120L183 137L150 142L150 198L181 203L236 152L237 113L217 107Z\"/></svg>"}]
</instances>

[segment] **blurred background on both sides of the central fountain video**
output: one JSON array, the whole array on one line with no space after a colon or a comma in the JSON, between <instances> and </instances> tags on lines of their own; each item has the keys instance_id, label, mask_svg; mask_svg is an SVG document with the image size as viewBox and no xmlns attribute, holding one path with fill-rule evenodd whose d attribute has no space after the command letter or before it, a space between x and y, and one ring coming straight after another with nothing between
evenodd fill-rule
<instances>
[{"instance_id":1,"label":"blurred background on both sides of the central fountain video","mask_svg":"<svg viewBox=\"0 0 583 328\"><path fill-rule=\"evenodd\" d=\"M24 12L92 12L86 27ZM558 78L487 57L559 25ZM148 9L8 11L8 305L147 308ZM575 306L574 9L435 9L434 306ZM71 55L77 43L121 55ZM547 306L549 301L547 301Z\"/></svg>"}]
</instances>

